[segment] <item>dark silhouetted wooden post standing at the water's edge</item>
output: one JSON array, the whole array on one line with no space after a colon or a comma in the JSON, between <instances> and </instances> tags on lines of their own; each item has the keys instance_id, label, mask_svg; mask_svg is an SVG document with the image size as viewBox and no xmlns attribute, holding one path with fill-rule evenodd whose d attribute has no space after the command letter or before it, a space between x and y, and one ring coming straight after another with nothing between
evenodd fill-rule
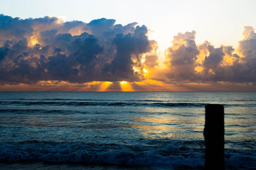
<instances>
[{"instance_id":1,"label":"dark silhouetted wooden post standing at the water's edge","mask_svg":"<svg viewBox=\"0 0 256 170\"><path fill-rule=\"evenodd\" d=\"M205 106L205 169L224 169L224 107Z\"/></svg>"}]
</instances>

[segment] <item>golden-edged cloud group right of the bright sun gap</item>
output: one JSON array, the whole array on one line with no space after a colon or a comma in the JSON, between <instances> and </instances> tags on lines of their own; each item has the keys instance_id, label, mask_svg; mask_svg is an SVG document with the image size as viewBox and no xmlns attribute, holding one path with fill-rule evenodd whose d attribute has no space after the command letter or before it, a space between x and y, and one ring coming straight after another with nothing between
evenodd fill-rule
<instances>
[{"instance_id":1,"label":"golden-edged cloud group right of the bright sun gap","mask_svg":"<svg viewBox=\"0 0 256 170\"><path fill-rule=\"evenodd\" d=\"M192 31L174 36L173 45L165 55L167 68L163 70L163 81L255 85L256 33L252 27L244 27L244 39L239 42L238 49L225 45L215 47L208 41L197 45L195 34Z\"/></svg>"}]
</instances>

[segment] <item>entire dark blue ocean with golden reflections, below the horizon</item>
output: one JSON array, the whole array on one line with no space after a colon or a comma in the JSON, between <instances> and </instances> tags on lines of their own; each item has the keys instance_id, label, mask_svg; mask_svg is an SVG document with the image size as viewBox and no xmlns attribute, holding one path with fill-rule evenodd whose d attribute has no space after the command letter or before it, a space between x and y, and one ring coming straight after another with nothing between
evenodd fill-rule
<instances>
[{"instance_id":1,"label":"entire dark blue ocean with golden reflections, below the horizon","mask_svg":"<svg viewBox=\"0 0 256 170\"><path fill-rule=\"evenodd\" d=\"M256 169L256 92L0 92L0 169L203 169L206 104Z\"/></svg>"}]
</instances>

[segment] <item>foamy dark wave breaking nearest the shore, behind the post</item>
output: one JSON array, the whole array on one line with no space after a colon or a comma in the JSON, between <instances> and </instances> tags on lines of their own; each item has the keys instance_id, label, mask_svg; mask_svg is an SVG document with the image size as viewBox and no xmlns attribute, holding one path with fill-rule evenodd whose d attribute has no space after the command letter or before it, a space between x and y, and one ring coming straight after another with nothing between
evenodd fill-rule
<instances>
[{"instance_id":1,"label":"foamy dark wave breaking nearest the shore, behind the post","mask_svg":"<svg viewBox=\"0 0 256 170\"><path fill-rule=\"evenodd\" d=\"M150 166L164 169L203 168L203 141L163 144L153 147L141 143L59 143L32 139L0 145L0 162L40 161ZM225 165L228 169L255 169L255 162L253 151L225 150Z\"/></svg>"}]
</instances>

